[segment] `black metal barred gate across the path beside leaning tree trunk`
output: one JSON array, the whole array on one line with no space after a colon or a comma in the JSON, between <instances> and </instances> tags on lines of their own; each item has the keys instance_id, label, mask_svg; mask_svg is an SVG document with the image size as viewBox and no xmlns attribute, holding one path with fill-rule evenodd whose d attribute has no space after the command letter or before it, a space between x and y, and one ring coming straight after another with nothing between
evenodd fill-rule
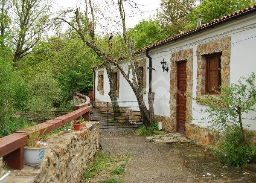
<instances>
[{"instance_id":1,"label":"black metal barred gate across the path beside leaning tree trunk","mask_svg":"<svg viewBox=\"0 0 256 183\"><path fill-rule=\"evenodd\" d=\"M143 125L138 102L117 102L120 113L113 112L112 102L91 102L90 121L99 122L99 128L135 128Z\"/></svg>"}]
</instances>

